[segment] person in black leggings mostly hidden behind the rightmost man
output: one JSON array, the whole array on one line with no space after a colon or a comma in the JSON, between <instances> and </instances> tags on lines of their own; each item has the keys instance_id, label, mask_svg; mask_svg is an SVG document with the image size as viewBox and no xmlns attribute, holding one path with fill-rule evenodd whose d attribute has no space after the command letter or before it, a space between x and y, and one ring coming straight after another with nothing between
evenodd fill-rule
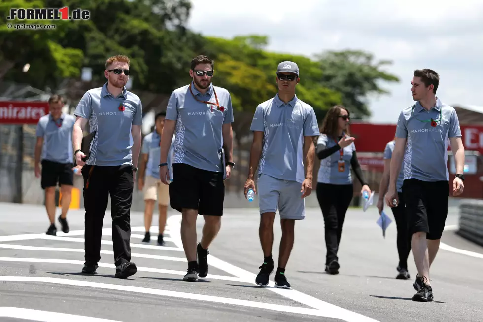
<instances>
[{"instance_id":1,"label":"person in black leggings mostly hidden behind the rightmost man","mask_svg":"<svg viewBox=\"0 0 483 322\"><path fill-rule=\"evenodd\" d=\"M396 145L396 138L386 144L384 149L384 172L382 173L382 178L380 179L379 186L379 200L378 200L378 210L379 214L382 213L384 208L384 195L389 188L389 175L391 169L391 158L392 152L394 151L394 146ZM408 256L411 251L411 234L409 233L409 221L405 214L404 198L402 193L404 172L401 169L399 171L399 176L397 178L397 194L399 197L399 204L396 207L391 208L392 214L394 215L394 221L396 221L397 229L397 251L399 254L399 265L396 268L399 274L396 276L397 279L407 280L411 276L408 272Z\"/></svg>"}]
</instances>

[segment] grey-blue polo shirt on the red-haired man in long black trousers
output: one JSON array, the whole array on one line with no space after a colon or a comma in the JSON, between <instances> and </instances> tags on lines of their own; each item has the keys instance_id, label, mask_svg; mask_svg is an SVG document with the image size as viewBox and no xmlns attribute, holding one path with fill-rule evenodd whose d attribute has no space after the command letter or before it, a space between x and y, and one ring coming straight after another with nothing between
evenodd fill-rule
<instances>
[{"instance_id":1,"label":"grey-blue polo shirt on the red-haired man in long black trousers","mask_svg":"<svg viewBox=\"0 0 483 322\"><path fill-rule=\"evenodd\" d=\"M107 91L106 83L103 87L88 90L77 105L74 115L89 120L91 133L97 131L86 164L133 164L131 126L142 124L141 100L137 95L124 87L123 92L114 97Z\"/></svg>"}]
</instances>

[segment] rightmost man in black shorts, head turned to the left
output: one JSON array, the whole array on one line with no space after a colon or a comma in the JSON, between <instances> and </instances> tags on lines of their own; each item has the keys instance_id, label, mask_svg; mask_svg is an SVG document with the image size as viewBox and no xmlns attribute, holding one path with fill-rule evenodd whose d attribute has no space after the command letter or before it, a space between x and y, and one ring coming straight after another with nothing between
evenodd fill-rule
<instances>
[{"instance_id":1,"label":"rightmost man in black shorts, head turned to the left","mask_svg":"<svg viewBox=\"0 0 483 322\"><path fill-rule=\"evenodd\" d=\"M448 216L448 143L456 165L453 195L463 193L465 151L458 116L436 97L439 75L430 69L414 71L411 82L416 104L401 111L392 154L386 204L399 203L396 181L404 156L402 192L412 234L411 248L417 272L413 301L433 301L429 268L438 252ZM405 148L405 144L407 147Z\"/></svg>"}]
</instances>

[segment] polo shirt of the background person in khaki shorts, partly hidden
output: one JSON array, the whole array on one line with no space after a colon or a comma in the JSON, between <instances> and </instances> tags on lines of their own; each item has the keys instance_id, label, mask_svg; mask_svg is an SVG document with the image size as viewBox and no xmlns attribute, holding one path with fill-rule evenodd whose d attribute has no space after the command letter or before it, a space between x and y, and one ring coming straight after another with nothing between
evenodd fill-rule
<instances>
[{"instance_id":1,"label":"polo shirt of the background person in khaki shorts, partly hidden","mask_svg":"<svg viewBox=\"0 0 483 322\"><path fill-rule=\"evenodd\" d=\"M171 174L171 166L173 164L173 155L174 155L174 140L175 136L171 141L171 146L168 151L168 169L170 169ZM159 179L159 162L161 159L161 136L156 132L156 128L153 132L147 134L142 141L142 148L141 153L148 155L148 161L146 165L146 176L151 176L156 179ZM170 177L171 178L171 177Z\"/></svg>"}]
</instances>

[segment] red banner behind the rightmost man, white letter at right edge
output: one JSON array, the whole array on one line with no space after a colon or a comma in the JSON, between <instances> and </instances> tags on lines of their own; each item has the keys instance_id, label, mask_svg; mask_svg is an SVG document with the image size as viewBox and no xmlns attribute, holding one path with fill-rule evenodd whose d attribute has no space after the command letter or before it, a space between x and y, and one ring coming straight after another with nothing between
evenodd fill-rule
<instances>
[{"instance_id":1,"label":"red banner behind the rightmost man, white letter at right edge","mask_svg":"<svg viewBox=\"0 0 483 322\"><path fill-rule=\"evenodd\" d=\"M465 150L483 154L483 126L461 125L460 127ZM394 139L395 133L396 124L350 124L350 134L355 137L357 152L383 152L386 144Z\"/></svg>"}]
</instances>

